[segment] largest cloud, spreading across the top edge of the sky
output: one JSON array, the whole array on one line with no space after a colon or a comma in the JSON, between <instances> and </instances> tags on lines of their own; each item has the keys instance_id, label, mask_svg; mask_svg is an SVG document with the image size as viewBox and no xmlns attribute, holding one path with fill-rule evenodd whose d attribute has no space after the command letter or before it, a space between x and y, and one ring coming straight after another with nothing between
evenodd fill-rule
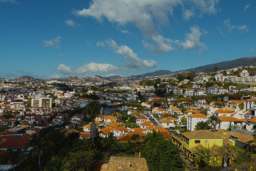
<instances>
[{"instance_id":1,"label":"largest cloud, spreading across the top edge of the sky","mask_svg":"<svg viewBox=\"0 0 256 171\"><path fill-rule=\"evenodd\" d=\"M218 12L215 7L217 4L218 0L92 0L88 9L76 10L73 13L77 16L93 17L99 22L106 18L121 26L131 23L146 38L156 43L153 45L144 41L144 46L159 53L174 49L171 40L160 35L157 28L170 26L169 17L174 17L173 11L176 7L181 6L183 19L189 20L195 15L203 17L205 14L215 14Z\"/></svg>"}]
</instances>

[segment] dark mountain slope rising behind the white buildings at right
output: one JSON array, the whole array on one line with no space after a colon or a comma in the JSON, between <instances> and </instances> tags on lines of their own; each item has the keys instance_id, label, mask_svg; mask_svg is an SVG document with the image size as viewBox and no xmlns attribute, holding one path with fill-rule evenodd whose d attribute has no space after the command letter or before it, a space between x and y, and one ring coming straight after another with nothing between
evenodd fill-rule
<instances>
[{"instance_id":1,"label":"dark mountain slope rising behind the white buildings at right","mask_svg":"<svg viewBox=\"0 0 256 171\"><path fill-rule=\"evenodd\" d=\"M244 66L255 65L255 64L256 64L256 56L248 57L248 58L246 57L239 58L233 61L218 62L215 64L204 65L201 67L196 67L196 68L192 68L184 71L195 72L195 73L198 73L198 72L208 73L208 72L213 72L215 65L217 65L218 70L228 70L236 67L244 67Z\"/></svg>"}]
</instances>

